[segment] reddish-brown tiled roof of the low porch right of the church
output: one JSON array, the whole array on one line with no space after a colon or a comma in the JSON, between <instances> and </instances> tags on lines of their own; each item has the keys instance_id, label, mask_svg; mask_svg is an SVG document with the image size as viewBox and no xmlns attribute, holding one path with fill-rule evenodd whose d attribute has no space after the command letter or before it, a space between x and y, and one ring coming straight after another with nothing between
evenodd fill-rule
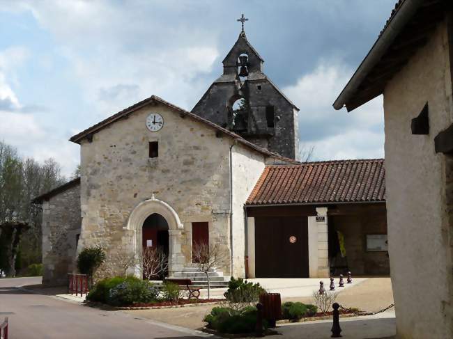
<instances>
[{"instance_id":1,"label":"reddish-brown tiled roof of the low porch right of the church","mask_svg":"<svg viewBox=\"0 0 453 339\"><path fill-rule=\"evenodd\" d=\"M384 159L266 166L246 205L385 201Z\"/></svg>"}]
</instances>

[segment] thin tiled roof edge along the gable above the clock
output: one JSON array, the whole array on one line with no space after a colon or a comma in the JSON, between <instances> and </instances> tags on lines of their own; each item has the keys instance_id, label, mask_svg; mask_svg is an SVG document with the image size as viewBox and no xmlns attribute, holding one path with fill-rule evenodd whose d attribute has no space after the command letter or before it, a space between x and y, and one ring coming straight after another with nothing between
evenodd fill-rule
<instances>
[{"instance_id":1,"label":"thin tiled roof edge along the gable above the clock","mask_svg":"<svg viewBox=\"0 0 453 339\"><path fill-rule=\"evenodd\" d=\"M241 143L242 145L245 145L247 148L251 148L252 150L256 150L256 152L260 152L263 155L266 155L268 157L273 157L275 159L279 159L284 162L288 162L290 164L299 164L299 162L295 161L294 159L289 159L289 158L283 157L282 155L279 155L277 153L270 152L269 150L261 148L258 145L255 145L254 143L251 143L251 142L245 140L242 136L240 136L236 133L233 133L233 132L229 131L228 129L220 127L219 125L211 122L210 120L201 118L200 116L197 116L194 113L191 113L189 111L186 111L185 109L182 109L181 107L171 104L170 102L163 100L161 97L158 97L157 95L152 95L151 97L148 97L147 99L142 100L141 102L137 102L137 104L133 104L132 106L128 107L127 109L123 109L123 111L119 111L118 113L115 113L113 116L109 116L109 118L106 118L105 120L100 121L100 123L97 123L87 129L85 129L84 131L80 132L79 134L72 136L69 139L69 141L72 141L73 143L80 143L80 141L82 141L82 139L86 138L87 136L100 131L100 129L107 127L108 125L114 123L115 121L120 120L121 118L128 116L129 114L131 114L131 113L137 111L138 109L141 109L142 107L145 107L146 105L151 104L153 102L159 103L159 104L164 104L165 106L178 111L178 113L182 114L183 116L188 116L194 120L199 121L200 123L209 125L210 127L217 129L218 132L221 132L222 134L226 134L227 136L230 136L231 138L236 139L236 141L238 143Z\"/></svg>"}]
</instances>

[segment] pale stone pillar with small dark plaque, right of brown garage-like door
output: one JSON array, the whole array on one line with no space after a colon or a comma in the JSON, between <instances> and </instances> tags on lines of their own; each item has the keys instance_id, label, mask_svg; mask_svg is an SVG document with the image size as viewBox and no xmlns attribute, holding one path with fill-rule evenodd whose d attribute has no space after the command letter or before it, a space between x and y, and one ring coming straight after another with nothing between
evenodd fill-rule
<instances>
[{"instance_id":1,"label":"pale stone pillar with small dark plaque, right of brown garage-like door","mask_svg":"<svg viewBox=\"0 0 453 339\"><path fill-rule=\"evenodd\" d=\"M329 237L327 226L327 207L316 207L316 228L318 230L318 278L328 278Z\"/></svg>"}]
</instances>

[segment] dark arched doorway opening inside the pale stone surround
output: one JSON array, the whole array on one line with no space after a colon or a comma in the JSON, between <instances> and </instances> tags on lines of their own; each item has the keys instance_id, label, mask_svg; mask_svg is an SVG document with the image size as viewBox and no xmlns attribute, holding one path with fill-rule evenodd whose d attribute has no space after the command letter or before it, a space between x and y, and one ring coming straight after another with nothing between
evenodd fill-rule
<instances>
[{"instance_id":1,"label":"dark arched doorway opening inside the pale stone surround","mask_svg":"<svg viewBox=\"0 0 453 339\"><path fill-rule=\"evenodd\" d=\"M169 226L167 220L165 220L162 215L153 213L145 219L143 227L141 228L141 246L143 248L144 255L146 255L146 249L148 249L151 250L151 253L153 253L153 255L155 255L155 258L165 258L165 260L167 260L168 262ZM162 256L162 254L164 256ZM167 266L167 264L165 266ZM167 276L167 274L168 269L160 272L160 274L158 274L158 276L155 276L155 278L164 278L164 276Z\"/></svg>"}]
</instances>

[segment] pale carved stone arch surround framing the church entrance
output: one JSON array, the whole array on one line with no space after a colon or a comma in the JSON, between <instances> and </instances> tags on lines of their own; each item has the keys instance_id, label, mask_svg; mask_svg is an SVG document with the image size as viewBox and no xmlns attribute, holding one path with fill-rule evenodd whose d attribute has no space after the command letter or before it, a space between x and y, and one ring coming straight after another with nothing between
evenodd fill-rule
<instances>
[{"instance_id":1,"label":"pale carved stone arch surround framing the church entrance","mask_svg":"<svg viewBox=\"0 0 453 339\"><path fill-rule=\"evenodd\" d=\"M183 244L183 224L181 223L178 214L168 203L156 199L154 196L151 199L144 200L139 203L129 216L126 229L132 231L133 251L141 258L142 249L142 227L151 214L160 214L168 223L169 227L169 276L175 271L183 269L185 257L181 252L181 244ZM135 267L135 276L141 276L141 260L139 265Z\"/></svg>"}]
</instances>

